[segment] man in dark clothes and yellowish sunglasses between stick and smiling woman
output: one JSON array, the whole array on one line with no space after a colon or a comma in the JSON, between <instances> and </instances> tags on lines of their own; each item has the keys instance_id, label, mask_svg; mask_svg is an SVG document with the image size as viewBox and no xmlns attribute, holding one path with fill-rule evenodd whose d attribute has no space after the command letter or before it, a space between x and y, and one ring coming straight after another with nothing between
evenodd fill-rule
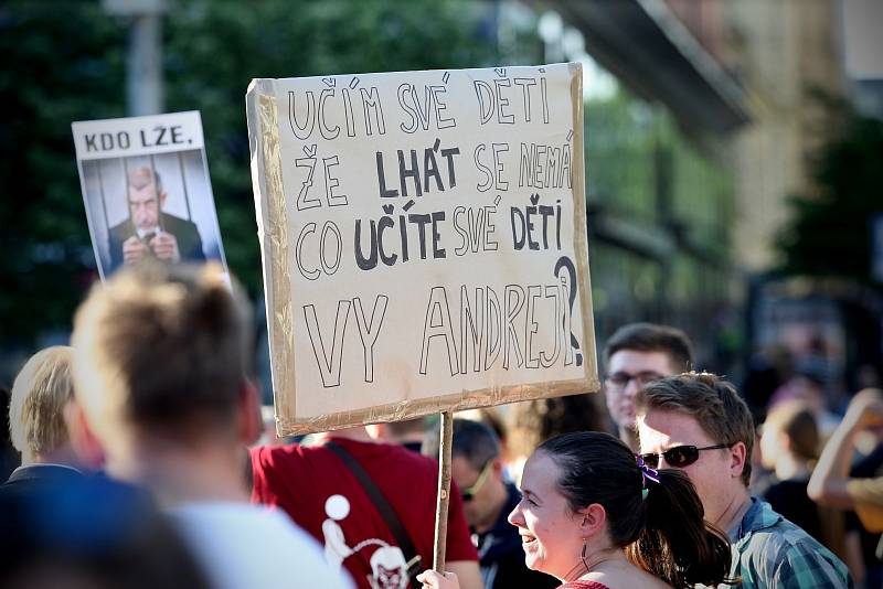
<instances>
[{"instance_id":1,"label":"man in dark clothes and yellowish sunglasses between stick and smiling woman","mask_svg":"<svg viewBox=\"0 0 883 589\"><path fill-rule=\"evenodd\" d=\"M438 452L438 436L428 437L424 448ZM512 587L553 588L554 577L533 571L524 564L518 528L507 521L521 499L518 489L503 475L500 445L485 424L454 420L450 475L460 489L462 513L478 548L481 581L486 589Z\"/></svg>"}]
</instances>

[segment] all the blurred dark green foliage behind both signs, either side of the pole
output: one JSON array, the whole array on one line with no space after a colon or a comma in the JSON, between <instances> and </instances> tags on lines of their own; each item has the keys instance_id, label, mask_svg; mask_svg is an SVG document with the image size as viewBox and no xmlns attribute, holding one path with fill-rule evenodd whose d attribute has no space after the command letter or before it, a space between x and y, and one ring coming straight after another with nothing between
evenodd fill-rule
<instances>
[{"instance_id":1,"label":"all the blurred dark green foliage behind both signs, either side of the pole","mask_svg":"<svg viewBox=\"0 0 883 589\"><path fill-rule=\"evenodd\" d=\"M181 0L163 18L166 109L200 110L227 263L260 289L245 90L255 77L480 67L485 4ZM483 26L483 29L482 29ZM71 122L125 116L127 22L98 1L0 8L0 343L70 329L97 278Z\"/></svg>"}]
</instances>

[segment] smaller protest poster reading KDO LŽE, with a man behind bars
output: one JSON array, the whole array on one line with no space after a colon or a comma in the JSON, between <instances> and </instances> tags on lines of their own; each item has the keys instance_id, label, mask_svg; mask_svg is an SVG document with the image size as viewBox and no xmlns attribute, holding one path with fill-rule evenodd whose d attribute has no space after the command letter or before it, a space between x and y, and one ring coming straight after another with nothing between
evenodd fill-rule
<instances>
[{"instance_id":1,"label":"smaller protest poster reading KDO L\u017dE, with a man behind bars","mask_svg":"<svg viewBox=\"0 0 883 589\"><path fill-rule=\"evenodd\" d=\"M81 121L72 128L103 280L148 258L214 259L226 267L199 113Z\"/></svg>"}]
</instances>

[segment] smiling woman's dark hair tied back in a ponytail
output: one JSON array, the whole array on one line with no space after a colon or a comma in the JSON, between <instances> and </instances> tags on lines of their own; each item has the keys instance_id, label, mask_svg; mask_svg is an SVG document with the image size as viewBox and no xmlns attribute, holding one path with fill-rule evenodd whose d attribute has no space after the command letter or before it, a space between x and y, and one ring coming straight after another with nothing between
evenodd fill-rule
<instances>
[{"instance_id":1,"label":"smiling woman's dark hair tied back in a ponytail","mask_svg":"<svg viewBox=\"0 0 883 589\"><path fill-rule=\"evenodd\" d=\"M705 522L693 483L679 470L647 468L609 433L581 431L544 441L561 469L557 488L571 508L607 513L610 542L628 560L675 589L734 585L730 540Z\"/></svg>"}]
</instances>

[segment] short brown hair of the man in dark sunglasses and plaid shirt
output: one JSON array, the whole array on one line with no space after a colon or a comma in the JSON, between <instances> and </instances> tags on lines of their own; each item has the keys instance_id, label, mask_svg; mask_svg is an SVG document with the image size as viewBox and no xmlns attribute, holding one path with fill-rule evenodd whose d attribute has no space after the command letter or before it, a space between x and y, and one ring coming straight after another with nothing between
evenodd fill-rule
<instances>
[{"instance_id":1,"label":"short brown hair of the man in dark sunglasses and plaid shirt","mask_svg":"<svg viewBox=\"0 0 883 589\"><path fill-rule=\"evenodd\" d=\"M748 485L755 427L736 387L706 372L669 376L645 385L635 398L638 416L646 416L653 409L689 415L716 443L743 442L746 453L742 481Z\"/></svg>"}]
</instances>

